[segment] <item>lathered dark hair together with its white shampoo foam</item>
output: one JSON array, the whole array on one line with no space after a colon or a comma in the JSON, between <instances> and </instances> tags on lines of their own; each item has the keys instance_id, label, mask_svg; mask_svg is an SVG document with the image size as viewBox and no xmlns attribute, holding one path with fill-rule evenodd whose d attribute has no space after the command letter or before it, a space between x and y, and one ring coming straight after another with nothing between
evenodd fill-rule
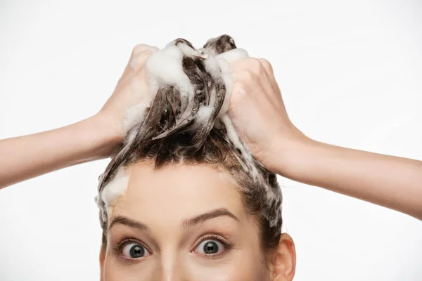
<instances>
[{"instance_id":1,"label":"lathered dark hair together with its white shampoo foam","mask_svg":"<svg viewBox=\"0 0 422 281\"><path fill-rule=\"evenodd\" d=\"M255 188L264 189L262 216L269 226L281 224L281 191L274 184L275 176L265 176L262 171L267 170L243 145L227 113L233 89L229 61L241 58L248 58L248 52L236 48L228 35L210 39L198 50L185 39L176 39L148 58L150 98L128 110L127 139L99 178L96 202L103 228L107 208L127 188L123 166L155 157L158 167L168 160L162 151L174 150L173 157L180 161L184 155L200 159L201 151L210 149L206 141L213 138L224 139L243 171L253 178ZM183 152L177 155L181 148Z\"/></svg>"}]
</instances>

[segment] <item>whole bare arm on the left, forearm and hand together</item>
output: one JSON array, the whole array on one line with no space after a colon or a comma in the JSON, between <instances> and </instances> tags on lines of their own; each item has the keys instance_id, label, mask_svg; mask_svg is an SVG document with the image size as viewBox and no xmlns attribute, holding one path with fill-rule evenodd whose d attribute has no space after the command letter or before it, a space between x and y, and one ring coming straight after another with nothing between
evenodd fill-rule
<instances>
[{"instance_id":1,"label":"whole bare arm on the left, forearm and hand together","mask_svg":"<svg viewBox=\"0 0 422 281\"><path fill-rule=\"evenodd\" d=\"M146 96L143 65L156 50L143 44L134 47L113 95L94 117L52 131L1 140L0 189L113 153L129 129L124 115Z\"/></svg>"}]
</instances>

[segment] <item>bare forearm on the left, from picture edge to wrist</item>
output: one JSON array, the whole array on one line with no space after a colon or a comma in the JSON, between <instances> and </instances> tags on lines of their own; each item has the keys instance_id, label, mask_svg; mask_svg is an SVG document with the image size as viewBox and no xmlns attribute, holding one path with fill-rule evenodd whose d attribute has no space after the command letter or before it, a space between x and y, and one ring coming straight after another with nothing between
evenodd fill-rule
<instances>
[{"instance_id":1,"label":"bare forearm on the left, from picture edge to wrist","mask_svg":"<svg viewBox=\"0 0 422 281\"><path fill-rule=\"evenodd\" d=\"M119 139L99 119L96 115L60 129L0 141L0 188L108 157Z\"/></svg>"}]
</instances>

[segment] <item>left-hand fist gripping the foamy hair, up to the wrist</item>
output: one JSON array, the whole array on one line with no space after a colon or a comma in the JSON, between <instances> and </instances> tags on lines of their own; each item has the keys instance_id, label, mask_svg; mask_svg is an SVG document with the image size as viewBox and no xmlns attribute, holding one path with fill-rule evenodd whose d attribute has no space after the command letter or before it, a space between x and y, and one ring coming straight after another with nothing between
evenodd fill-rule
<instances>
[{"instance_id":1,"label":"left-hand fist gripping the foamy hair, up to the wrist","mask_svg":"<svg viewBox=\"0 0 422 281\"><path fill-rule=\"evenodd\" d=\"M113 94L97 113L96 119L101 120L115 138L123 141L129 129L134 126L128 115L141 114L140 110L133 110L134 106L145 103L148 98L148 81L144 65L149 56L158 51L158 48L146 44L136 45L132 50L129 62L117 82ZM132 117L132 116L131 116Z\"/></svg>"}]
</instances>

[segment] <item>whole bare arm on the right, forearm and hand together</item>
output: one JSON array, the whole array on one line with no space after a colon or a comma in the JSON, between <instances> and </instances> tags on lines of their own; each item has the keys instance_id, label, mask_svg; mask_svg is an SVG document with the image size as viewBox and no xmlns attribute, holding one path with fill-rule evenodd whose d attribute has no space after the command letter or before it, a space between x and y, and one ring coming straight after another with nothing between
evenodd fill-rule
<instances>
[{"instance_id":1,"label":"whole bare arm on the right, forearm and hand together","mask_svg":"<svg viewBox=\"0 0 422 281\"><path fill-rule=\"evenodd\" d=\"M250 58L232 65L236 82L229 114L252 155L267 169L422 220L421 161L307 138L290 122L267 60Z\"/></svg>"}]
</instances>

